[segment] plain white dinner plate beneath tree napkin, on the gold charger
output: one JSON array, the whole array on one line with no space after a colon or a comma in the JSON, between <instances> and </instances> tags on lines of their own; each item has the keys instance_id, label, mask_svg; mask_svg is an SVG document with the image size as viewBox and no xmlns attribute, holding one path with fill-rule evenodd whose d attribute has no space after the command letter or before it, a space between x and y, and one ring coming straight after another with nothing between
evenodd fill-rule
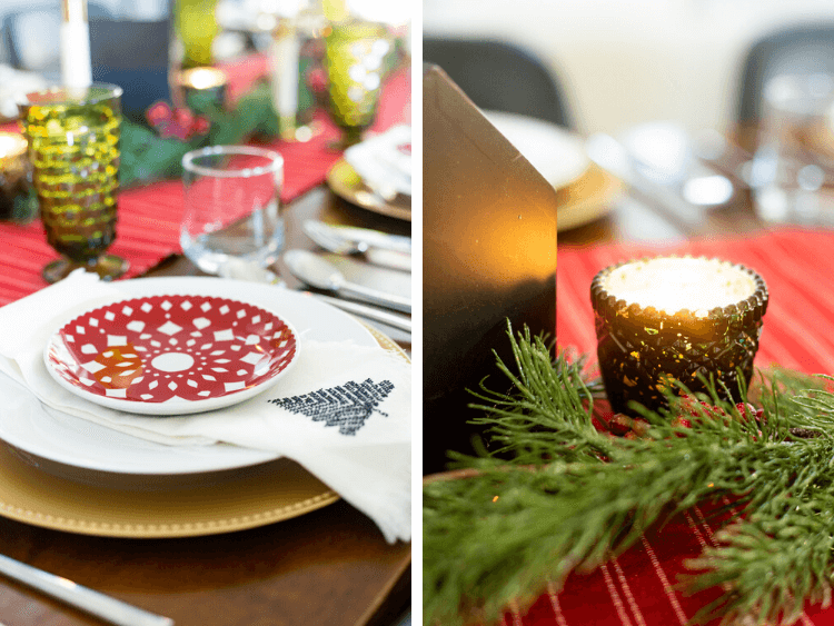
<instances>
[{"instance_id":1,"label":"plain white dinner plate beneath tree napkin, on the gold charger","mask_svg":"<svg viewBox=\"0 0 834 626\"><path fill-rule=\"evenodd\" d=\"M141 278L115 285L126 298L160 294L193 294L234 298L272 310L291 324L300 337L318 341L353 340L377 346L356 319L311 296L255 282L220 278ZM2 376L2 375L0 375ZM0 439L23 453L73 467L137 475L176 475L247 467L279 455L217 444L166 446L118 433L89 420L42 407L33 395L2 376L6 394L27 395L32 410L26 419L0 411ZM16 393L17 391L17 393ZM19 416L22 411L16 411ZM37 461L37 459L36 459Z\"/></svg>"}]
</instances>

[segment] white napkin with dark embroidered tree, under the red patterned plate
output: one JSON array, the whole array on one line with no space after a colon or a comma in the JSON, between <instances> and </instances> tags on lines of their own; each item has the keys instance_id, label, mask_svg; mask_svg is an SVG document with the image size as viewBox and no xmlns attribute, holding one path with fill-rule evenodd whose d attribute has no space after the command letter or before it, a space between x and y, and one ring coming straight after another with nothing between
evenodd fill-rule
<instances>
[{"instance_id":1,"label":"white napkin with dark embroidered tree, under the red patterned plate","mask_svg":"<svg viewBox=\"0 0 834 626\"><path fill-rule=\"evenodd\" d=\"M239 405L179 417L112 410L58 385L42 354L63 321L125 297L118 284L78 270L0 308L0 372L52 409L136 437L171 446L225 441L278 453L370 517L388 541L410 540L410 364L383 348L305 340L301 334L291 369L276 386ZM301 409L290 400L354 384L365 385L379 400L358 419L310 409L297 413Z\"/></svg>"}]
</instances>

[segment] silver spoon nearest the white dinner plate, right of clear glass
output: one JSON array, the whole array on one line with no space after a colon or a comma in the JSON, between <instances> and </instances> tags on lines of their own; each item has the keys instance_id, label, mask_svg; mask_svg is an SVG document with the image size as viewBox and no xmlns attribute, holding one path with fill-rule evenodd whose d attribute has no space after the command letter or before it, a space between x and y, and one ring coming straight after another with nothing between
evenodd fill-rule
<instances>
[{"instance_id":1,"label":"silver spoon nearest the white dinner plate, right of clear glass","mask_svg":"<svg viewBox=\"0 0 834 626\"><path fill-rule=\"evenodd\" d=\"M317 289L338 291L349 298L365 300L399 311L411 312L411 299L349 282L332 264L307 250L290 250L284 260L292 275Z\"/></svg>"}]
</instances>

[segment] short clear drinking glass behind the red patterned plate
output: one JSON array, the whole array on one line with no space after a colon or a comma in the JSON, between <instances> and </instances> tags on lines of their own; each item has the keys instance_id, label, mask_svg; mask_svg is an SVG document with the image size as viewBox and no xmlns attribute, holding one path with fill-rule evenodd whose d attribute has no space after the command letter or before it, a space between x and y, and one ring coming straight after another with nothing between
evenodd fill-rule
<instances>
[{"instance_id":1,"label":"short clear drinking glass behind the red patterned plate","mask_svg":"<svg viewBox=\"0 0 834 626\"><path fill-rule=\"evenodd\" d=\"M284 159L247 146L215 146L182 157L185 255L208 274L231 259L272 265L284 248Z\"/></svg>"}]
</instances>

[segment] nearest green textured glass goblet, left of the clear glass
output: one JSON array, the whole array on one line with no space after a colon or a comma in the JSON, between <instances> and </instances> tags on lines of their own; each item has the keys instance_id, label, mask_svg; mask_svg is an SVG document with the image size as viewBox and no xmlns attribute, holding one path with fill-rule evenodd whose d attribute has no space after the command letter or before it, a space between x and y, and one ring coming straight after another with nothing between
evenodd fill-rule
<instances>
[{"instance_id":1,"label":"nearest green textured glass goblet, left of the clear glass","mask_svg":"<svg viewBox=\"0 0 834 626\"><path fill-rule=\"evenodd\" d=\"M109 280L128 262L106 250L116 239L121 88L54 87L19 102L47 242L62 258L43 269L56 282L77 268Z\"/></svg>"}]
</instances>

